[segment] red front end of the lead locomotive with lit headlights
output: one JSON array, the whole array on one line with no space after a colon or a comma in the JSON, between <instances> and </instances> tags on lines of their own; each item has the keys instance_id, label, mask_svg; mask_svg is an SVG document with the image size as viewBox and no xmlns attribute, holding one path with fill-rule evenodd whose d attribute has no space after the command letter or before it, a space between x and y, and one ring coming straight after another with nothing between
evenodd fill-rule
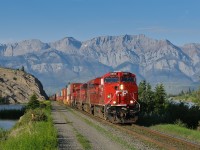
<instances>
[{"instance_id":1,"label":"red front end of the lead locomotive with lit headlights","mask_svg":"<svg viewBox=\"0 0 200 150\"><path fill-rule=\"evenodd\" d=\"M136 77L129 72L111 72L101 79L105 116L114 123L134 123L140 110Z\"/></svg>"}]
</instances>

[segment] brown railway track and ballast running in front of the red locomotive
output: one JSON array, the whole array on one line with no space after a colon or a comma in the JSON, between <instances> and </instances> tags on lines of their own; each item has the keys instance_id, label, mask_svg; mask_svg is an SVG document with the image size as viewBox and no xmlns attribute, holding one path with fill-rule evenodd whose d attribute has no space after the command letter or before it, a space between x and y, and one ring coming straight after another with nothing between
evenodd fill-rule
<instances>
[{"instance_id":1,"label":"brown railway track and ballast running in front of the red locomotive","mask_svg":"<svg viewBox=\"0 0 200 150\"><path fill-rule=\"evenodd\" d=\"M150 143L150 145L153 145L159 149L167 149L167 150L200 150L200 144L187 141L182 138L173 137L171 135L161 133L146 127L138 126L138 125L119 125L119 124L113 124L111 122L108 122L106 120L103 120L97 116L93 116L87 112L81 111L79 109L76 109L77 111L83 113L86 116L89 116L90 118L95 119L98 122L101 122L103 124L112 126L114 128L117 128L124 133L127 133L134 138L141 139L142 141L145 141L147 143Z\"/></svg>"}]
</instances>

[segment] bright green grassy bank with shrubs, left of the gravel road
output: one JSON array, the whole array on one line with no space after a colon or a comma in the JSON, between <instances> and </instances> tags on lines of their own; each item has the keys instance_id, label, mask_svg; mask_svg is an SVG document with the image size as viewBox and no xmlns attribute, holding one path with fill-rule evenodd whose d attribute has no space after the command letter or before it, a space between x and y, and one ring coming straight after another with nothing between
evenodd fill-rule
<instances>
[{"instance_id":1,"label":"bright green grassy bank with shrubs, left of the gravel road","mask_svg":"<svg viewBox=\"0 0 200 150\"><path fill-rule=\"evenodd\" d=\"M4 137L0 137L2 150L55 150L57 149L57 131L50 110L47 107L29 110ZM0 134L1 135L1 134Z\"/></svg>"}]
</instances>

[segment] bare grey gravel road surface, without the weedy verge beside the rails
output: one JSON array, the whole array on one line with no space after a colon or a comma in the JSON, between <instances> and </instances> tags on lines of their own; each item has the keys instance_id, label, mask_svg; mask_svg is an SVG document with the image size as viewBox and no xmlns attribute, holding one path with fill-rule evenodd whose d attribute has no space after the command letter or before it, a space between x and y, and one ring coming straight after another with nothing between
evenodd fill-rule
<instances>
[{"instance_id":1,"label":"bare grey gravel road surface, without the weedy verge beside the rails","mask_svg":"<svg viewBox=\"0 0 200 150\"><path fill-rule=\"evenodd\" d=\"M52 102L52 107L54 125L58 130L59 149L84 149L77 139L77 134L82 135L89 141L91 149L123 149L121 145L113 142L110 138L85 123L79 116L64 106Z\"/></svg>"}]
</instances>

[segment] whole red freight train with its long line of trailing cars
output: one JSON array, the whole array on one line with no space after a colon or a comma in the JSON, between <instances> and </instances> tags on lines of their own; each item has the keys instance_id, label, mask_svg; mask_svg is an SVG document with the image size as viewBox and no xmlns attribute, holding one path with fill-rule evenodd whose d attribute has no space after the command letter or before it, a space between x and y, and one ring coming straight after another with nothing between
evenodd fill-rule
<instances>
[{"instance_id":1,"label":"whole red freight train with its long line of trailing cars","mask_svg":"<svg viewBox=\"0 0 200 150\"><path fill-rule=\"evenodd\" d=\"M53 99L113 123L135 123L140 111L136 76L130 72L109 72L87 83L70 83Z\"/></svg>"}]
</instances>

